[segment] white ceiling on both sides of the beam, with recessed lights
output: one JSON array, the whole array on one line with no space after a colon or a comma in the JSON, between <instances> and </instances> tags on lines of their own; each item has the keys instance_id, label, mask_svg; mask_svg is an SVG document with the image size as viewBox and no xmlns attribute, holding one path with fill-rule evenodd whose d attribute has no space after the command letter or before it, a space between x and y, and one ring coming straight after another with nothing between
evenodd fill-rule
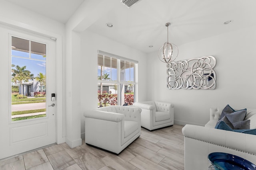
<instances>
[{"instance_id":1,"label":"white ceiling on both sides of the beam, with recessed lights","mask_svg":"<svg viewBox=\"0 0 256 170\"><path fill-rule=\"evenodd\" d=\"M88 0L7 1L66 23ZM256 25L256 0L141 0L131 8L120 0L113 3L115 6L100 18L90 17L92 24L87 30L145 53L157 51L167 41L167 22L171 23L169 42L178 46ZM228 20L233 21L225 25ZM108 22L114 26L107 27Z\"/></svg>"}]
</instances>

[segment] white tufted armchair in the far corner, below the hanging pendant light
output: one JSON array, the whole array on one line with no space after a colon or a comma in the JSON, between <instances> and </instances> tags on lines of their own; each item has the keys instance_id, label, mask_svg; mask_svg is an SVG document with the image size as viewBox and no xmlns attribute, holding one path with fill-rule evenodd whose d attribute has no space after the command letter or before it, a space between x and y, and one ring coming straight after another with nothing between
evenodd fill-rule
<instances>
[{"instance_id":1,"label":"white tufted armchair in the far corner, below the hanging pendant light","mask_svg":"<svg viewBox=\"0 0 256 170\"><path fill-rule=\"evenodd\" d=\"M135 107L142 109L141 126L152 131L173 125L174 107L167 102L136 102Z\"/></svg>"}]
</instances>

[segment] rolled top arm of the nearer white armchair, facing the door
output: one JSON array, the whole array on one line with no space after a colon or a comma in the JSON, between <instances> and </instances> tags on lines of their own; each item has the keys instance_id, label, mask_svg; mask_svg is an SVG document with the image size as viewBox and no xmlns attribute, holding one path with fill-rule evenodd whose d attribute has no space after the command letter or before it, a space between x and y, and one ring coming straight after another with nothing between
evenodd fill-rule
<instances>
[{"instance_id":1,"label":"rolled top arm of the nearer white armchair, facing the door","mask_svg":"<svg viewBox=\"0 0 256 170\"><path fill-rule=\"evenodd\" d=\"M124 114L93 109L84 112L84 117L119 122L124 119Z\"/></svg>"}]
</instances>

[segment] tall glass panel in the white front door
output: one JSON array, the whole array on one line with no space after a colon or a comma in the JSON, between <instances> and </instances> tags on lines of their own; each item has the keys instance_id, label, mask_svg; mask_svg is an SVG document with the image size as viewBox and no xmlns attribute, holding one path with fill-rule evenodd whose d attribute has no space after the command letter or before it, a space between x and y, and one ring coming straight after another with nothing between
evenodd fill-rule
<instances>
[{"instance_id":1,"label":"tall glass panel in the white front door","mask_svg":"<svg viewBox=\"0 0 256 170\"><path fill-rule=\"evenodd\" d=\"M12 121L46 117L46 45L12 37Z\"/></svg>"}]
</instances>

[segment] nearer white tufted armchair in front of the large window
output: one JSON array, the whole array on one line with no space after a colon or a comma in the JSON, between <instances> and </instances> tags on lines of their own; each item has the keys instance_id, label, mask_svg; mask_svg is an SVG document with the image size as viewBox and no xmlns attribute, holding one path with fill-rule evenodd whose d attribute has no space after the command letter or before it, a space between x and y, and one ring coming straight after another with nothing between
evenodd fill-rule
<instances>
[{"instance_id":1,"label":"nearer white tufted armchair in front of the large window","mask_svg":"<svg viewBox=\"0 0 256 170\"><path fill-rule=\"evenodd\" d=\"M86 111L85 143L119 154L140 136L141 109L107 106Z\"/></svg>"}]
</instances>

